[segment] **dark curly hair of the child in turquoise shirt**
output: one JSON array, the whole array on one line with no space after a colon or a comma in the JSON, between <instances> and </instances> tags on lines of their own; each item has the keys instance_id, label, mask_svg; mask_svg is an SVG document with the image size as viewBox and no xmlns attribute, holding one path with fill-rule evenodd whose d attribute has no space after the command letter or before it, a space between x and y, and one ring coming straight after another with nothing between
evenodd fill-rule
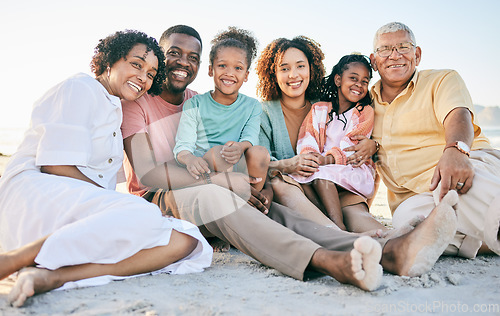
<instances>
[{"instance_id":1,"label":"dark curly hair of the child in turquoise shirt","mask_svg":"<svg viewBox=\"0 0 500 316\"><path fill-rule=\"evenodd\" d=\"M227 31L218 33L210 43L212 44L209 54L210 65L213 64L217 51L222 47L236 47L245 51L248 68L257 56L257 39L250 31L234 26L230 26Z\"/></svg>"}]
</instances>

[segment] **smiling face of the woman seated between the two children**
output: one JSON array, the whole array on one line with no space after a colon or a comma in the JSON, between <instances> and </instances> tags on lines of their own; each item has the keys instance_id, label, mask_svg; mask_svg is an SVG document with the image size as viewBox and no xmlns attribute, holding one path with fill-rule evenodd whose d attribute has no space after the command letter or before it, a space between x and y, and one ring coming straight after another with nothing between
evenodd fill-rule
<instances>
[{"instance_id":1,"label":"smiling face of the woman seated between the two children","mask_svg":"<svg viewBox=\"0 0 500 316\"><path fill-rule=\"evenodd\" d=\"M305 98L309 78L309 62L306 55L297 48L287 49L276 69L276 80L282 98Z\"/></svg>"}]
</instances>

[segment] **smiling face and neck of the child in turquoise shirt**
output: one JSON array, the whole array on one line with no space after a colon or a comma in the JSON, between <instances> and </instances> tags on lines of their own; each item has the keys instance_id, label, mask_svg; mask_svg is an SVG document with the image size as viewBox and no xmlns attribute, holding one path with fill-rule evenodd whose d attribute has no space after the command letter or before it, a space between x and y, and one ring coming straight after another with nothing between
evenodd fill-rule
<instances>
[{"instance_id":1,"label":"smiling face and neck of the child in turquoise shirt","mask_svg":"<svg viewBox=\"0 0 500 316\"><path fill-rule=\"evenodd\" d=\"M241 48L221 47L208 67L208 75L214 78L215 101L230 105L238 98L238 91L248 79L247 54Z\"/></svg>"}]
</instances>

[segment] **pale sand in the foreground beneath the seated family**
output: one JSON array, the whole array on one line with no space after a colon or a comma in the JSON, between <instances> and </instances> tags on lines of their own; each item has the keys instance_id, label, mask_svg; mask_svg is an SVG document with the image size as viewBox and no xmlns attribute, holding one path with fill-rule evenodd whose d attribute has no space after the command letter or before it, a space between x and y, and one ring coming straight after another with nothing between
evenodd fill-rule
<instances>
[{"instance_id":1,"label":"pale sand in the foreground beneath the seated family","mask_svg":"<svg viewBox=\"0 0 500 316\"><path fill-rule=\"evenodd\" d=\"M8 158L0 156L0 174ZM372 212L390 225L381 186ZM500 257L442 257L421 277L384 273L371 293L330 277L297 281L231 248L203 273L147 275L107 285L37 295L7 304L13 280L0 282L0 315L387 315L474 312L500 315Z\"/></svg>"}]
</instances>

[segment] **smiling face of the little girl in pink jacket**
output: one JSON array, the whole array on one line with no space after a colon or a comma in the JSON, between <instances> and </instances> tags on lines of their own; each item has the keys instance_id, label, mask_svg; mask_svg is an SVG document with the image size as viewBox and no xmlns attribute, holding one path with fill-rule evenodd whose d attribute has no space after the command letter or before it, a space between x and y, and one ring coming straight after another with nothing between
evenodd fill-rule
<instances>
[{"instance_id":1,"label":"smiling face of the little girl in pink jacket","mask_svg":"<svg viewBox=\"0 0 500 316\"><path fill-rule=\"evenodd\" d=\"M338 88L339 105L348 105L358 103L368 93L368 84L370 83L370 72L366 66L361 63L350 63L342 75L335 75L335 84ZM347 108L348 108L347 107ZM341 112L347 108L342 109Z\"/></svg>"}]
</instances>

